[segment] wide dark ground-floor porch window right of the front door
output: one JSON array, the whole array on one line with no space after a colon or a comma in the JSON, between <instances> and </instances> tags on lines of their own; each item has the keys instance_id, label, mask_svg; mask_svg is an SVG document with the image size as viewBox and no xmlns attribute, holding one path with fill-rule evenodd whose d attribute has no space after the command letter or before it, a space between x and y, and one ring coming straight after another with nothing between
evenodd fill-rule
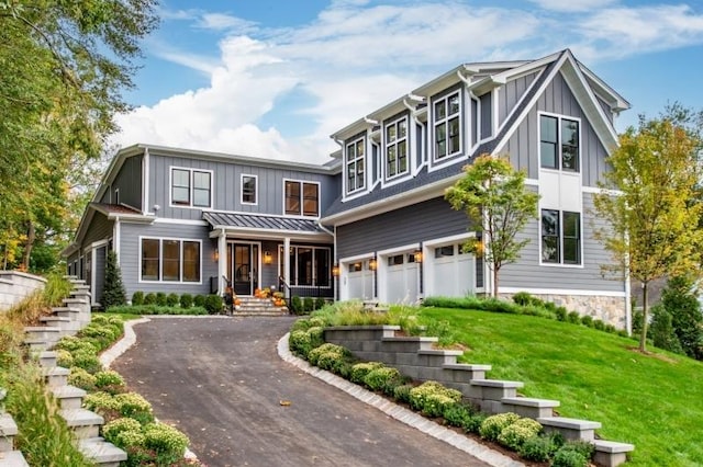
<instances>
[{"instance_id":1,"label":"wide dark ground-floor porch window right of the front door","mask_svg":"<svg viewBox=\"0 0 703 467\"><path fill-rule=\"evenodd\" d=\"M283 258L283 247L280 247L279 258ZM328 287L332 275L330 260L328 248L291 246L289 251L290 285ZM281 260L280 275L283 275L283 267L284 264Z\"/></svg>"}]
</instances>

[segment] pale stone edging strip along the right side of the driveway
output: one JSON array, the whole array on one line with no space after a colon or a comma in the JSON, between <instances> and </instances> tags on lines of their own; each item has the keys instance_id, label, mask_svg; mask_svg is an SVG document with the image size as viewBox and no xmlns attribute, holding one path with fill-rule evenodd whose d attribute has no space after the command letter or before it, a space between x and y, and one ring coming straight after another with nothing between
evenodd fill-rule
<instances>
[{"instance_id":1,"label":"pale stone edging strip along the right side of the driveway","mask_svg":"<svg viewBox=\"0 0 703 467\"><path fill-rule=\"evenodd\" d=\"M432 420L428 420L412 410L405 409L397 403L389 401L388 399L371 392L361 386L330 373L325 369L321 369L316 366L312 366L306 361L293 355L288 346L288 339L290 333L287 333L278 341L278 355L287 363L295 366L300 371L314 376L317 379L325 381L326 384L336 387L337 389L348 394L349 396L371 406L387 415L405 423L421 432L443 441L457 449L460 449L471 456L490 464L493 467L524 467L525 465L514 460L499 452L495 452L476 441L458 434L445 426L442 426Z\"/></svg>"}]
</instances>

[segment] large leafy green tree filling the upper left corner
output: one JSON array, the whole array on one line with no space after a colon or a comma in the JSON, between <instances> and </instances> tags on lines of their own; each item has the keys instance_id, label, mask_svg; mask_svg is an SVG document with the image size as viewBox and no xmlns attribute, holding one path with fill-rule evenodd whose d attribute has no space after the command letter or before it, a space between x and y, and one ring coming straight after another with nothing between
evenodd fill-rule
<instances>
[{"instance_id":1,"label":"large leafy green tree filling the upper left corner","mask_svg":"<svg viewBox=\"0 0 703 467\"><path fill-rule=\"evenodd\" d=\"M133 86L140 41L157 24L155 7L0 0L0 237L22 244L23 255L13 255L25 266L38 232L56 231L43 221L66 210L71 164L98 156L116 129L114 114L129 109L121 92Z\"/></svg>"}]
</instances>

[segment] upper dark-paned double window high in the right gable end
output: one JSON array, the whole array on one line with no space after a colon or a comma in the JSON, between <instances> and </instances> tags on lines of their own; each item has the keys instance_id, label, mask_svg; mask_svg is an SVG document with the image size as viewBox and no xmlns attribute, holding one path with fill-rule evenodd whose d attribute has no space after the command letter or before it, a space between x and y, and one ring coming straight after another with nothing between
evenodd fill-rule
<instances>
[{"instance_id":1,"label":"upper dark-paned double window high in the right gable end","mask_svg":"<svg viewBox=\"0 0 703 467\"><path fill-rule=\"evenodd\" d=\"M545 169L579 171L579 123L549 115L539 117L539 159Z\"/></svg>"}]
</instances>

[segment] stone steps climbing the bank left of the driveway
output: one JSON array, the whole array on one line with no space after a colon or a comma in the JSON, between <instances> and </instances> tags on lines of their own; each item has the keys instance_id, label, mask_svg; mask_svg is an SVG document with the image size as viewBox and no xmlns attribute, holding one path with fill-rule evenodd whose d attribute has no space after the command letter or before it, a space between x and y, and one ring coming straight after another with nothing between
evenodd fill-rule
<instances>
[{"instance_id":1,"label":"stone steps climbing the bank left of the driveway","mask_svg":"<svg viewBox=\"0 0 703 467\"><path fill-rule=\"evenodd\" d=\"M51 350L60 338L76 334L90 322L90 287L83 281L70 281L74 285L70 296L63 300L63 306L53 308L52 316L41 318L43 326L25 328L24 342L37 357L46 387L57 400L60 415L74 431L80 451L98 466L118 467L120 462L126 460L126 453L99 437L103 418L82 408L86 391L68 385L70 371L57 366L56 352ZM16 434L14 424L8 426L9 432L14 430ZM0 424L0 442L2 434L5 431ZM0 467L26 465L4 464L4 460L0 457Z\"/></svg>"}]
</instances>

